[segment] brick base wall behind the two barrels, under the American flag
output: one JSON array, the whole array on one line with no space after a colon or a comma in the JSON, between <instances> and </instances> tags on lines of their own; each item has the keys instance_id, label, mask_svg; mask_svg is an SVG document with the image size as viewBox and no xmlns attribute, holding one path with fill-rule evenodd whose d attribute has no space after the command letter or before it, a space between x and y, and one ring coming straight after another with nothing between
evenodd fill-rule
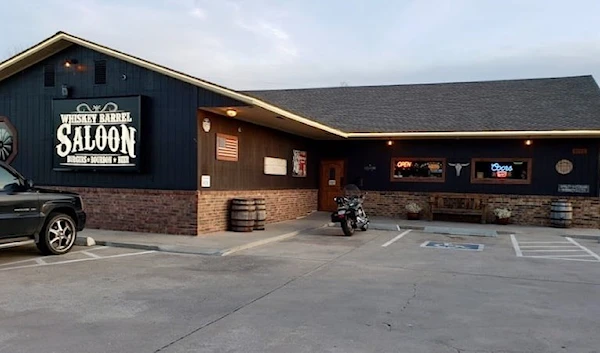
<instances>
[{"instance_id":1,"label":"brick base wall behind the two barrels, under the American flag","mask_svg":"<svg viewBox=\"0 0 600 353\"><path fill-rule=\"evenodd\" d=\"M267 207L266 223L273 223L305 216L315 211L318 190L198 191L198 233L226 230L229 223L229 204L237 197L264 197Z\"/></svg>"}]
</instances>

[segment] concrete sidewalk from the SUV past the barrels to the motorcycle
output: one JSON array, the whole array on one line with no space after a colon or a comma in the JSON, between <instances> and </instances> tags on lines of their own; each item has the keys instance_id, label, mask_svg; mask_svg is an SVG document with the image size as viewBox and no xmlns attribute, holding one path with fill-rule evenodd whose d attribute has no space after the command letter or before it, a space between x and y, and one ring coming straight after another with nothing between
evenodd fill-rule
<instances>
[{"instance_id":1,"label":"concrete sidewalk from the SUV past the barrels to the motorcycle","mask_svg":"<svg viewBox=\"0 0 600 353\"><path fill-rule=\"evenodd\" d=\"M223 231L200 236L184 236L85 229L79 233L78 238L81 238L82 243L86 243L86 238L93 238L96 244L104 246L225 256L287 239L301 232L326 226L328 222L328 213L316 212L297 220L267 224L265 230L248 233Z\"/></svg>"}]
</instances>

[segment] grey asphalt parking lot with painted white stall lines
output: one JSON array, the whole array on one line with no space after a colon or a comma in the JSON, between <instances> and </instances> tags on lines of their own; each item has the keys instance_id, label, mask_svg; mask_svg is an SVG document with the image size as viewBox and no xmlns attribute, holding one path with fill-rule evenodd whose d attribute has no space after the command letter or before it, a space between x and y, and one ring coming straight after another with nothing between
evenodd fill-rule
<instances>
[{"instance_id":1,"label":"grey asphalt parking lot with painted white stall lines","mask_svg":"<svg viewBox=\"0 0 600 353\"><path fill-rule=\"evenodd\" d=\"M341 234L223 257L3 250L0 352L600 351L597 242Z\"/></svg>"}]
</instances>

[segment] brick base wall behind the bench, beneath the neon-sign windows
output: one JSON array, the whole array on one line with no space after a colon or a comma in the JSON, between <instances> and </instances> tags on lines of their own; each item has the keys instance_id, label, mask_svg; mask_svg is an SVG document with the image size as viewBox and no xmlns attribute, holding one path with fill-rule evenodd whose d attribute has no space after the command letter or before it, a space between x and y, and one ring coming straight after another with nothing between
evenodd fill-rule
<instances>
[{"instance_id":1,"label":"brick base wall behind the bench, beneath the neon-sign windows","mask_svg":"<svg viewBox=\"0 0 600 353\"><path fill-rule=\"evenodd\" d=\"M422 219L429 219L430 193L400 191L369 191L365 199L368 215L406 219L405 206L410 202L419 204L423 211ZM477 195L477 194L476 194ZM486 222L493 222L494 208L508 208L512 211L511 223L522 225L549 226L550 205L559 199L556 196L478 194L488 203ZM560 197L573 205L573 227L600 227L600 199L594 197Z\"/></svg>"}]
</instances>

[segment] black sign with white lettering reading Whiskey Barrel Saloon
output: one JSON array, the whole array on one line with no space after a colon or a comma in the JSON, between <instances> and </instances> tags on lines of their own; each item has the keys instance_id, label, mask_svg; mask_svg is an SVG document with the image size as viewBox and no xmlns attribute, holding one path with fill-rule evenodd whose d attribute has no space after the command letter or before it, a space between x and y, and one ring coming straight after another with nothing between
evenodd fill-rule
<instances>
[{"instance_id":1,"label":"black sign with white lettering reading Whiskey Barrel Saloon","mask_svg":"<svg viewBox=\"0 0 600 353\"><path fill-rule=\"evenodd\" d=\"M140 96L54 100L54 168L139 170L140 106Z\"/></svg>"}]
</instances>

